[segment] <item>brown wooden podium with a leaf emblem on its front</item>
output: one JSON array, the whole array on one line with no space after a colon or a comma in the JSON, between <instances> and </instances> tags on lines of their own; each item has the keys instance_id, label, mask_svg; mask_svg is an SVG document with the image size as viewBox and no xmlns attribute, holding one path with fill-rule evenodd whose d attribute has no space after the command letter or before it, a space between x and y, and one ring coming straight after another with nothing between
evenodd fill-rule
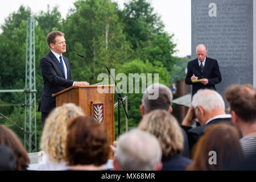
<instances>
[{"instance_id":1,"label":"brown wooden podium with a leaf emblem on its front","mask_svg":"<svg viewBox=\"0 0 256 182\"><path fill-rule=\"evenodd\" d=\"M115 85L71 86L58 93L56 107L64 103L80 106L85 115L90 115L105 126L110 144L114 142L114 87ZM111 155L113 156L113 155Z\"/></svg>"}]
</instances>

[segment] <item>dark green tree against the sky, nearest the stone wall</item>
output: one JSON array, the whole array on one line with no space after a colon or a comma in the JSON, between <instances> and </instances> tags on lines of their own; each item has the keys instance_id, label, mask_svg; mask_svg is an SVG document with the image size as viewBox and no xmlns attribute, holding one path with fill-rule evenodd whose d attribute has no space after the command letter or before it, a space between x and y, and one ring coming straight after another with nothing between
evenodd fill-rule
<instances>
[{"instance_id":1,"label":"dark green tree against the sky, nearest the stone wall","mask_svg":"<svg viewBox=\"0 0 256 182\"><path fill-rule=\"evenodd\" d=\"M161 61L170 72L176 63L172 59L176 44L172 42L174 35L164 31L160 16L153 13L154 9L146 0L132 0L125 3L123 22L127 40L135 50L134 59Z\"/></svg>"}]
</instances>

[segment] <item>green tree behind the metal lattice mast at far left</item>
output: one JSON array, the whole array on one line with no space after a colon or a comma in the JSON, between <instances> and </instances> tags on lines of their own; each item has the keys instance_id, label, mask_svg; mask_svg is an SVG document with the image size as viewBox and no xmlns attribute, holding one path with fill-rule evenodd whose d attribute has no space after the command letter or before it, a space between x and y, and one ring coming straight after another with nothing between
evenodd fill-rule
<instances>
[{"instance_id":1,"label":"green tree behind the metal lattice mast at far left","mask_svg":"<svg viewBox=\"0 0 256 182\"><path fill-rule=\"evenodd\" d=\"M1 26L0 34L0 82L1 89L23 89L25 86L25 69L26 69L26 30L27 18L31 16L31 11L27 7L20 6L19 10L12 13L5 19L5 23ZM35 60L36 60L36 103L39 103L43 80L41 76L39 61L49 51L46 36L43 30L35 23ZM24 93L1 93L0 100L3 104L23 104ZM24 107L23 106L6 106L0 107L1 113L5 114L11 120L21 127L24 127ZM37 114L38 135L40 135L41 118ZM6 125L10 125L23 140L23 132L8 121L2 121ZM38 137L38 143L40 137Z\"/></svg>"}]
</instances>

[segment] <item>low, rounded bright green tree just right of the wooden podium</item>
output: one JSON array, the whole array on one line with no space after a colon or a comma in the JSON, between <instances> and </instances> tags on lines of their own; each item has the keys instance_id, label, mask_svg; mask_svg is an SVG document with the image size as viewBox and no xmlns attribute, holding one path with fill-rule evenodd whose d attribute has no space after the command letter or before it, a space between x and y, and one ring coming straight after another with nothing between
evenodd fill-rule
<instances>
[{"instance_id":1,"label":"low, rounded bright green tree just right of the wooden podium","mask_svg":"<svg viewBox=\"0 0 256 182\"><path fill-rule=\"evenodd\" d=\"M167 85L170 87L170 73L167 71L166 68L164 68L163 64L160 61L154 61L154 63L150 63L148 60L146 62L135 59L131 62L123 64L122 68L119 69L119 72L115 73L116 75L118 73L125 73L127 77L127 92L128 93L122 93L122 97L128 96L128 110L129 110L129 129L133 127L137 127L138 123L141 121L141 111L139 110L139 106L141 105L141 99L144 93L144 90L142 90L142 82L146 84L148 80L143 80L140 78L139 81L139 93L135 93L135 82L136 80L131 79L132 77L129 77L129 73L134 74L138 73L138 75L141 75L144 73L146 76L148 73L152 74L152 84L154 83L155 77L154 74L158 73L159 75L159 82L161 84ZM130 90L129 92L129 79L133 82L133 90ZM148 83L148 82L147 82ZM118 80L117 80L118 84ZM145 85L148 86L147 84ZM145 88L146 88L145 87ZM121 89L123 89L121 87ZM115 93L115 102L117 102L117 94ZM118 131L118 115L117 115L117 108L115 109L115 137L117 137L117 131ZM125 111L123 110L121 106L121 133L125 132Z\"/></svg>"}]
</instances>

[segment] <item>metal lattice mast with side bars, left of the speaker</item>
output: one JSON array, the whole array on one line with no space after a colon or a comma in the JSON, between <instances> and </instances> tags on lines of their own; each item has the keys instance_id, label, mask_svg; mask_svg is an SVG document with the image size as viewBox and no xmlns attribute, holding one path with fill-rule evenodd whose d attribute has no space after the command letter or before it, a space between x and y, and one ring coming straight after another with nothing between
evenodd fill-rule
<instances>
[{"instance_id":1,"label":"metal lattice mast with side bars, left of the speaker","mask_svg":"<svg viewBox=\"0 0 256 182\"><path fill-rule=\"evenodd\" d=\"M27 39L26 39L26 80L24 89L0 90L5 92L24 92L24 129L11 119L2 115L15 126L19 127L24 133L24 147L28 152L36 152L36 88L35 88L35 20L27 18ZM19 104L16 104L19 105ZM9 105L11 106L11 105ZM14 105L13 105L14 106Z\"/></svg>"}]
</instances>

